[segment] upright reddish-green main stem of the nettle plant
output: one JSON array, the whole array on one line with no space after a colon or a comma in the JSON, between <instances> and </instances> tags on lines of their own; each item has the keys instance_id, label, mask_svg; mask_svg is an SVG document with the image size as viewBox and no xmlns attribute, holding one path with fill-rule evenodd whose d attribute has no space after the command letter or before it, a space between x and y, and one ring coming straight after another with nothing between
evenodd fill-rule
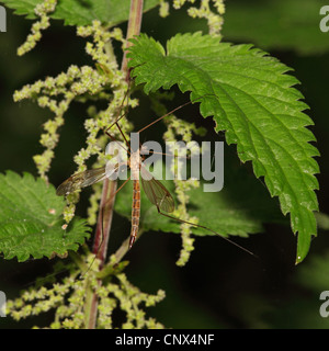
<instances>
[{"instance_id":1,"label":"upright reddish-green main stem of the nettle plant","mask_svg":"<svg viewBox=\"0 0 329 351\"><path fill-rule=\"evenodd\" d=\"M126 39L138 35L140 32L140 24L143 18L143 3L144 0L132 0L131 1L131 12ZM127 42L127 47L132 43ZM126 52L122 60L122 70L125 72L126 81L129 81L129 71L127 67ZM113 217L113 208L115 196L113 195L116 191L116 181L109 181L106 178L103 182L103 191L100 204L100 212L98 217L95 238L92 248L92 252L97 254L100 260L100 269L103 268L106 259L107 244L110 238L110 229ZM99 285L102 281L99 280ZM98 315L98 295L95 292L87 292L88 296L86 298L86 326L88 329L94 329L97 326L97 315Z\"/></svg>"}]
</instances>

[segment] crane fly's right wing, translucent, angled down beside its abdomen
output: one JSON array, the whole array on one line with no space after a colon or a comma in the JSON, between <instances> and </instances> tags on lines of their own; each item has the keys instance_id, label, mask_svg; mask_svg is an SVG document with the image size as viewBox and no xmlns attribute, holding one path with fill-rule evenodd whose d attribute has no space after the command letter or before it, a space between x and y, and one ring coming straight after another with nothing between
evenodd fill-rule
<instances>
[{"instance_id":1,"label":"crane fly's right wing, translucent, angled down beside its abdomen","mask_svg":"<svg viewBox=\"0 0 329 351\"><path fill-rule=\"evenodd\" d=\"M140 168L140 176L141 185L148 200L161 211L173 212L174 202L170 192L144 167Z\"/></svg>"}]
</instances>

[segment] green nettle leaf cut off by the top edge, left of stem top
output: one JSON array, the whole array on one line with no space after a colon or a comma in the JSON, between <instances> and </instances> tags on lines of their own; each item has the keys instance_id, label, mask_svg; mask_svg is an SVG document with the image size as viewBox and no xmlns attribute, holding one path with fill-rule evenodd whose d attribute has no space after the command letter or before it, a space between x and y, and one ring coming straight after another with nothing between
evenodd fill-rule
<instances>
[{"instance_id":1,"label":"green nettle leaf cut off by the top edge, left of stem top","mask_svg":"<svg viewBox=\"0 0 329 351\"><path fill-rule=\"evenodd\" d=\"M14 9L15 14L26 15L27 19L36 19L34 9L41 0L1 0L8 8ZM146 0L144 11L159 4L159 0ZM61 0L56 10L50 14L52 19L64 20L66 25L88 25L93 20L99 20L106 25L115 25L127 21L129 16L131 1L122 0Z\"/></svg>"}]
</instances>

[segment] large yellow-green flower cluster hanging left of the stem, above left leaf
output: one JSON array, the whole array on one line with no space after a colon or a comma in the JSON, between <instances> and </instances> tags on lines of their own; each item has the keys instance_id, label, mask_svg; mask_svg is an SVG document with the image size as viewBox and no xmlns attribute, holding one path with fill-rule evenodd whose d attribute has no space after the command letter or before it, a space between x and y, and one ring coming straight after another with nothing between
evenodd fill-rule
<instances>
[{"instance_id":1,"label":"large yellow-green flower cluster hanging left of the stem, above left leaf","mask_svg":"<svg viewBox=\"0 0 329 351\"><path fill-rule=\"evenodd\" d=\"M87 146L81 148L75 157L75 162L78 165L77 171L83 171L87 168L86 161L93 155L98 156L100 163L104 163L103 149L107 141L104 131L117 118L128 89L112 46L112 41L118 41L125 45L122 31L120 29L106 31L99 21L94 21L91 26L78 27L77 34L83 37L92 36L92 42L88 42L86 45L86 52L95 61L95 68L72 65L66 72L61 72L55 78L47 77L45 80L38 80L14 92L14 101L35 99L41 107L49 109L55 115L53 120L43 125L44 133L39 143L45 150L33 158L39 176L45 180L47 180L47 172L55 156L54 149L59 139L58 129L65 123L64 114L68 111L70 103L73 100L80 102L110 101L104 111L97 111L95 106L90 106L87 111L89 115L89 118L84 121L88 133ZM134 107L137 105L137 101L125 99L125 104ZM131 129L131 124L126 120L122 120L122 129L124 133ZM120 135L116 129L111 133L114 137ZM94 223L95 203L99 197L100 191L91 199L90 224ZM76 193L68 196L68 206L64 212L67 222L75 215L75 204L78 199Z\"/></svg>"}]
</instances>

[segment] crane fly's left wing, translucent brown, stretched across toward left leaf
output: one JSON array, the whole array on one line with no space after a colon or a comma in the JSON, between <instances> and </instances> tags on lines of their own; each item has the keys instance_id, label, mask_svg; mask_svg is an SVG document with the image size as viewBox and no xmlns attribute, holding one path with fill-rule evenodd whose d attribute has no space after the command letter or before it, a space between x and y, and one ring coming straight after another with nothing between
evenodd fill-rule
<instances>
[{"instance_id":1,"label":"crane fly's left wing, translucent brown, stretched across toward left leaf","mask_svg":"<svg viewBox=\"0 0 329 351\"><path fill-rule=\"evenodd\" d=\"M105 167L90 169L84 172L80 172L71 176L64 181L56 190L56 195L67 195L80 188L92 185L107 177Z\"/></svg>"}]
</instances>

